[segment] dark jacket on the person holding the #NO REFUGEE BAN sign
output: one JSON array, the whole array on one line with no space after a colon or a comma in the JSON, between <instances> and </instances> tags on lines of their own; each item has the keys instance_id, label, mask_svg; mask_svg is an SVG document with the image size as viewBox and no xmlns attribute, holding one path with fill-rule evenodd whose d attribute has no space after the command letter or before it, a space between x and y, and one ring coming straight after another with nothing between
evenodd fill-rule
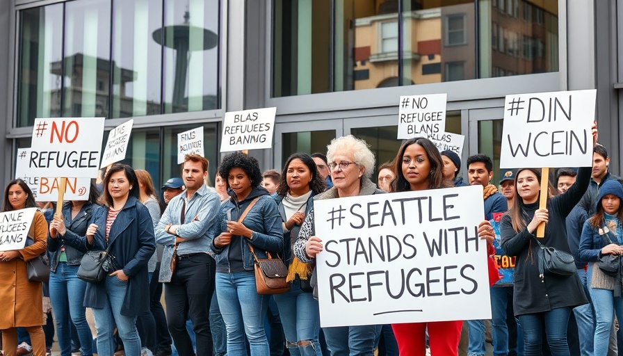
<instances>
[{"instance_id":1,"label":"dark jacket on the person holding the #NO REFUGEE BAN sign","mask_svg":"<svg viewBox=\"0 0 623 356\"><path fill-rule=\"evenodd\" d=\"M67 231L64 235L58 234L56 238L47 235L47 250L50 252L50 270L56 272L58 261L60 259L61 247L65 246L65 255L67 256L67 265L79 266L83 254L87 251L84 245L84 236L89 226L89 220L93 215L93 211L99 207L97 204L86 202L80 209L76 218L72 220L72 203L63 204L63 217L65 218L65 227Z\"/></svg>"}]
</instances>

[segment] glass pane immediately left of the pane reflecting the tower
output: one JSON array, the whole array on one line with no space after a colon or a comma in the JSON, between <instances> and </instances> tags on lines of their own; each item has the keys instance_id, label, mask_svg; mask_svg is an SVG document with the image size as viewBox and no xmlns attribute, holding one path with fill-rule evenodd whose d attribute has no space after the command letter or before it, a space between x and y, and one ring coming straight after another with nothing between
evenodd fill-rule
<instances>
[{"instance_id":1,"label":"glass pane immediately left of the pane reflecting the tower","mask_svg":"<svg viewBox=\"0 0 623 356\"><path fill-rule=\"evenodd\" d=\"M113 4L113 118L154 115L161 103L161 0Z\"/></svg>"}]
</instances>

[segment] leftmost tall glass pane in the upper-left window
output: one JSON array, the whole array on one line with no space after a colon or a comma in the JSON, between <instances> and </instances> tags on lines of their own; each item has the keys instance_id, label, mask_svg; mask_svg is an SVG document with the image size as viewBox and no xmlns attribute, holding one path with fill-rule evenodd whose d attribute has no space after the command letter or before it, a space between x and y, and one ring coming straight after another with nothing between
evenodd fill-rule
<instances>
[{"instance_id":1,"label":"leftmost tall glass pane in the upper-left window","mask_svg":"<svg viewBox=\"0 0 623 356\"><path fill-rule=\"evenodd\" d=\"M60 60L63 57L63 4L19 12L17 125L60 116Z\"/></svg>"}]
</instances>

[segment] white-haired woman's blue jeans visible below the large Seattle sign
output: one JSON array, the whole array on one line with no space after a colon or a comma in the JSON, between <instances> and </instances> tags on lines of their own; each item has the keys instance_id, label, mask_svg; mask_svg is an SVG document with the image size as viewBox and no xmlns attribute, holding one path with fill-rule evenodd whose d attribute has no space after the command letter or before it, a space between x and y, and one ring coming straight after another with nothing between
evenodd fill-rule
<instances>
[{"instance_id":1,"label":"white-haired woman's blue jeans visible below the large Seattle sign","mask_svg":"<svg viewBox=\"0 0 623 356\"><path fill-rule=\"evenodd\" d=\"M331 356L372 356L382 325L323 327Z\"/></svg>"}]
</instances>

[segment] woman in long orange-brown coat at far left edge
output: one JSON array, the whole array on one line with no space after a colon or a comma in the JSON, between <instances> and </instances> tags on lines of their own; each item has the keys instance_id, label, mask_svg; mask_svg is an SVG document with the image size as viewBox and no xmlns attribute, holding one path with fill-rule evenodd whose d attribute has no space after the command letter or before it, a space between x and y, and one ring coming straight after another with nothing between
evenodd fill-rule
<instances>
[{"instance_id":1,"label":"woman in long orange-brown coat at far left edge","mask_svg":"<svg viewBox=\"0 0 623 356\"><path fill-rule=\"evenodd\" d=\"M3 211L35 207L37 204L29 186L22 179L10 181L4 191ZM29 332L33 354L45 355L45 336L41 327L42 284L29 282L26 277L26 261L38 257L46 249L47 222L39 211L35 212L28 236L34 241L31 245L0 252L0 299L8 302L0 313L0 330L4 355L7 356L15 355L17 350L17 327L25 327Z\"/></svg>"}]
</instances>

